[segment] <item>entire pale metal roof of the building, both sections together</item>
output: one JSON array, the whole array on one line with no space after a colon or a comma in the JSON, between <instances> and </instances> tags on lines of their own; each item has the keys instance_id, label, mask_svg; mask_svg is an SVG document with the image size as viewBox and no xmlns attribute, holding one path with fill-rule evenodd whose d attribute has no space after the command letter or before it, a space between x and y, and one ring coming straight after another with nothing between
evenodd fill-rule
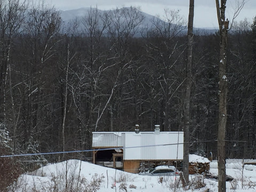
<instances>
[{"instance_id":1,"label":"entire pale metal roof of the building, both sections together","mask_svg":"<svg viewBox=\"0 0 256 192\"><path fill-rule=\"evenodd\" d=\"M93 132L92 147L124 147L124 160L183 159L183 132Z\"/></svg>"}]
</instances>

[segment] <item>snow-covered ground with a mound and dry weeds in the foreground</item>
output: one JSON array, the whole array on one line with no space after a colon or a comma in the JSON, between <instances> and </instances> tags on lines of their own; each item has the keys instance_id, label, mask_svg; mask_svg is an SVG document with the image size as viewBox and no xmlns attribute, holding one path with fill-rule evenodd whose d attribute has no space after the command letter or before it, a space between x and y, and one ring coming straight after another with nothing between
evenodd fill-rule
<instances>
[{"instance_id":1,"label":"snow-covered ground with a mound and dry weeds in the foreground","mask_svg":"<svg viewBox=\"0 0 256 192\"><path fill-rule=\"evenodd\" d=\"M205 159L201 159L201 161L205 161ZM211 162L210 167L210 173L217 175L217 162ZM227 175L234 178L233 181L227 181L227 191L256 191L255 165L245 165L243 169L242 161L231 161L227 163ZM186 191L218 191L218 181L205 179L202 175L190 175L190 182L193 184ZM197 188L203 185L205 185L203 188ZM50 164L34 172L23 174L13 187L12 191L15 192L65 191L65 188L68 189L66 191L83 192L185 191L179 177L143 176L75 159Z\"/></svg>"}]
</instances>

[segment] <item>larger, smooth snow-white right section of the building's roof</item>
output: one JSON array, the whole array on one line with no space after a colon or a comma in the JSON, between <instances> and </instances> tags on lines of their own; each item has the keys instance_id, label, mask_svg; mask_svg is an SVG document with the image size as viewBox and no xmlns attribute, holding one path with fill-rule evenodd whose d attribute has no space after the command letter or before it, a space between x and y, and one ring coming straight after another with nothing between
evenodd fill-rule
<instances>
[{"instance_id":1,"label":"larger, smooth snow-white right section of the building's roof","mask_svg":"<svg viewBox=\"0 0 256 192\"><path fill-rule=\"evenodd\" d=\"M124 160L183 159L183 132L125 134ZM182 144L175 145L177 143Z\"/></svg>"}]
</instances>

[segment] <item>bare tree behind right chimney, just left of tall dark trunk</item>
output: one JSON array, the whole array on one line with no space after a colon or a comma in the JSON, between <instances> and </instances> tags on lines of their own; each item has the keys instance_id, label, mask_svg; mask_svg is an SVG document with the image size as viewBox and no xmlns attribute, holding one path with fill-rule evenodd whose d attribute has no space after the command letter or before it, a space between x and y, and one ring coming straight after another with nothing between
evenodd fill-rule
<instances>
[{"instance_id":1,"label":"bare tree behind right chimney, just left of tall dark trunk","mask_svg":"<svg viewBox=\"0 0 256 192\"><path fill-rule=\"evenodd\" d=\"M152 81L156 82L149 84L152 89L148 92L150 94L147 99L151 105L150 121L153 122L153 114L156 114L155 123L161 124L164 131L171 131L175 130L171 127L171 122L174 120L171 116L173 111L171 104L177 99L175 93L185 82L184 78L178 75L177 70L179 70L179 62L182 60L186 47L183 42L175 38L186 29L186 22L176 10L165 10L164 20L156 18L151 22L153 26L146 31L148 34L146 46L147 57L152 64L154 63L152 66L154 71L149 71L151 68L147 70L152 76ZM153 72L152 75L151 72ZM157 77L154 77L156 74ZM158 89L156 92L154 85ZM155 95L153 96L152 93Z\"/></svg>"}]
</instances>

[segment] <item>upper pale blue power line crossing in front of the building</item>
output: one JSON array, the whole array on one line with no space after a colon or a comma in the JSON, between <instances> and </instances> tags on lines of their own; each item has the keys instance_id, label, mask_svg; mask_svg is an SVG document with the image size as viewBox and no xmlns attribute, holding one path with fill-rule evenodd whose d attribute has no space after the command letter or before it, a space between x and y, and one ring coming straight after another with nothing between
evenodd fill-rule
<instances>
[{"instance_id":1,"label":"upper pale blue power line crossing in front of the building","mask_svg":"<svg viewBox=\"0 0 256 192\"><path fill-rule=\"evenodd\" d=\"M182 143L167 143L160 145L147 145L147 146L132 146L132 147L112 147L112 148L103 148L103 149L86 149L86 150L74 150L74 151L56 151L56 152L46 152L46 153L36 153L36 154L13 154L13 155L2 155L0 158L4 157L23 157L23 156L36 156L36 155L56 155L56 154L69 154L69 153L83 153L91 151L103 151L103 150L113 150L113 149L131 149L131 148L144 148L144 147L159 147L159 146L171 146L171 145L183 145L183 144L193 144L193 143L202 143L202 142L216 142L218 140L209 140L209 141L195 141L195 142L182 142ZM236 141L236 140L222 140L226 142L248 142L248 141Z\"/></svg>"}]
</instances>

